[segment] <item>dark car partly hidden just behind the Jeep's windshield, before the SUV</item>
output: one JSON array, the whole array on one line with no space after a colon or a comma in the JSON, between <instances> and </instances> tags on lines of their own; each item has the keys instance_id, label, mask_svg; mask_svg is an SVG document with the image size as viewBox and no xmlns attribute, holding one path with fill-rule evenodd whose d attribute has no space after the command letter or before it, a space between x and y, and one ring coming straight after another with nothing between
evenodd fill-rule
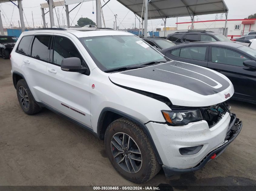
<instances>
[{"instance_id":1,"label":"dark car partly hidden just behind the Jeep's windshield, before the SUV","mask_svg":"<svg viewBox=\"0 0 256 191\"><path fill-rule=\"evenodd\" d=\"M145 40L148 44L150 44L154 48L157 48L160 50L164 48L169 48L171 46L175 46L175 43L161 37L146 37L146 38L141 37L141 39Z\"/></svg>"}]
</instances>

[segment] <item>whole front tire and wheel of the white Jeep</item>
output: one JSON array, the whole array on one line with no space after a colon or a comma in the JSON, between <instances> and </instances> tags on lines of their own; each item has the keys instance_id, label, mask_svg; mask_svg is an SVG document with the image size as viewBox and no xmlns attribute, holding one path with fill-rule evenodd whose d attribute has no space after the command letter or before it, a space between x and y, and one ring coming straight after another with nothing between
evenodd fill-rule
<instances>
[{"instance_id":1,"label":"whole front tire and wheel of the white Jeep","mask_svg":"<svg viewBox=\"0 0 256 191\"><path fill-rule=\"evenodd\" d=\"M147 135L128 119L117 119L108 126L105 148L115 170L131 182L147 182L161 169Z\"/></svg>"}]
</instances>

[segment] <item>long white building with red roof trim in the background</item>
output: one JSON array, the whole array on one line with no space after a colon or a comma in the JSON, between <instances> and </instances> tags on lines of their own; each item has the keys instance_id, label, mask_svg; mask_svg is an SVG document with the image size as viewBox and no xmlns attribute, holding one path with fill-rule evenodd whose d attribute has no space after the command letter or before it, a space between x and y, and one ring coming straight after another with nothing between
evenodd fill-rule
<instances>
[{"instance_id":1,"label":"long white building with red roof trim in the background","mask_svg":"<svg viewBox=\"0 0 256 191\"><path fill-rule=\"evenodd\" d=\"M250 31L256 31L256 18L254 19L228 19L228 37L241 37ZM192 22L176 23L178 30L191 29ZM194 30L205 28L224 28L225 20L195 21ZM222 30L223 31L223 30Z\"/></svg>"}]
</instances>

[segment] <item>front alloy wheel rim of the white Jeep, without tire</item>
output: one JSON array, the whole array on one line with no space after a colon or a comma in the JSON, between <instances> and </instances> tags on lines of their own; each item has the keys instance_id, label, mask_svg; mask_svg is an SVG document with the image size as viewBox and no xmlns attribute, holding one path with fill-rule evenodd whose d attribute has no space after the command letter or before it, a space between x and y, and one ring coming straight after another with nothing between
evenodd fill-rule
<instances>
[{"instance_id":1,"label":"front alloy wheel rim of the white Jeep, without tire","mask_svg":"<svg viewBox=\"0 0 256 191\"><path fill-rule=\"evenodd\" d=\"M111 139L111 151L117 164L126 172L137 173L142 166L141 151L126 133L118 132Z\"/></svg>"}]
</instances>

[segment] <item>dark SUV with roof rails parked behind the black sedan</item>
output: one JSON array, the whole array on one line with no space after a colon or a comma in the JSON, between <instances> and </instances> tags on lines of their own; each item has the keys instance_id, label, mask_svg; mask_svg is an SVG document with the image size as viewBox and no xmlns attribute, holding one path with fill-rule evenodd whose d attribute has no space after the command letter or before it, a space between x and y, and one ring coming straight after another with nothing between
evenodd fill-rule
<instances>
[{"instance_id":1,"label":"dark SUV with roof rails parked behind the black sedan","mask_svg":"<svg viewBox=\"0 0 256 191\"><path fill-rule=\"evenodd\" d=\"M176 32L169 34L166 39L172 41L175 44L198 41L231 41L222 34L205 30L188 30L186 32Z\"/></svg>"}]
</instances>

